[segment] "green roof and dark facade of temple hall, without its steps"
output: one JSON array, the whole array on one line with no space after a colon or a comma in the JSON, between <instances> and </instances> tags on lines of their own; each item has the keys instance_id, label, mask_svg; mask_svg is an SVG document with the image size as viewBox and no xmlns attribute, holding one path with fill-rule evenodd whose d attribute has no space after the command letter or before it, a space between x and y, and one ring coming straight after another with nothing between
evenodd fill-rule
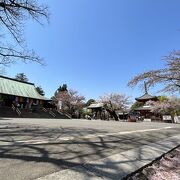
<instances>
[{"instance_id":1,"label":"green roof and dark facade of temple hall, without its steps","mask_svg":"<svg viewBox=\"0 0 180 180\"><path fill-rule=\"evenodd\" d=\"M36 91L33 83L0 76L0 106L30 109L33 105L43 106L47 100Z\"/></svg>"}]
</instances>

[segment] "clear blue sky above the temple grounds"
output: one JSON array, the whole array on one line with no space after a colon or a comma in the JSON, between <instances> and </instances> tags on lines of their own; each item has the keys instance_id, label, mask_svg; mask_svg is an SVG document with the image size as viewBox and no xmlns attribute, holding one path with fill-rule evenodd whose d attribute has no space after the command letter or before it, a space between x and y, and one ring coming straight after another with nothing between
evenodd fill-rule
<instances>
[{"instance_id":1,"label":"clear blue sky above the temple grounds","mask_svg":"<svg viewBox=\"0 0 180 180\"><path fill-rule=\"evenodd\" d=\"M50 24L29 21L25 37L46 66L13 64L6 75L24 72L47 97L66 83L87 99L108 92L133 99L143 92L127 87L127 82L136 74L163 67L162 57L180 48L179 0L42 2L49 6Z\"/></svg>"}]
</instances>

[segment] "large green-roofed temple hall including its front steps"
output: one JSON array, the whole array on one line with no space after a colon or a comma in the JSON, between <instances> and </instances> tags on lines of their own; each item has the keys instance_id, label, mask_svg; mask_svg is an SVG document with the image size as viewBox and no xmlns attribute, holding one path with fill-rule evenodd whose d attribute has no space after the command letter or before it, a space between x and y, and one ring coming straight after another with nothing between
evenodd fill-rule
<instances>
[{"instance_id":1,"label":"large green-roofed temple hall including its front steps","mask_svg":"<svg viewBox=\"0 0 180 180\"><path fill-rule=\"evenodd\" d=\"M0 118L70 118L51 102L37 92L33 83L0 76Z\"/></svg>"}]
</instances>

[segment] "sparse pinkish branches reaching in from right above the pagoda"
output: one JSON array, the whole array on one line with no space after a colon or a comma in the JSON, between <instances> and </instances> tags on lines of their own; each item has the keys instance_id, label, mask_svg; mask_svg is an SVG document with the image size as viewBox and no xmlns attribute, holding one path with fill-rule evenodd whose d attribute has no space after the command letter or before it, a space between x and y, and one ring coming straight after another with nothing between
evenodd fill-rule
<instances>
[{"instance_id":1,"label":"sparse pinkish branches reaching in from right above the pagoda","mask_svg":"<svg viewBox=\"0 0 180 180\"><path fill-rule=\"evenodd\" d=\"M180 92L180 51L172 52L164 60L165 68L141 73L132 78L128 86L145 81L148 87L163 84L162 92Z\"/></svg>"}]
</instances>

